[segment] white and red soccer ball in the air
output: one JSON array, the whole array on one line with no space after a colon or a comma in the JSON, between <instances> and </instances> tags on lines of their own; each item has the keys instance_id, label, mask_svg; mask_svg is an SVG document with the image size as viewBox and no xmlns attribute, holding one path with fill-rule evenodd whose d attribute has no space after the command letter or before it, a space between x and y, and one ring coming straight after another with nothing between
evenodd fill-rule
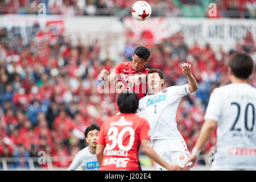
<instances>
[{"instance_id":1,"label":"white and red soccer ball in the air","mask_svg":"<svg viewBox=\"0 0 256 182\"><path fill-rule=\"evenodd\" d=\"M146 1L137 1L131 6L131 15L139 21L150 18L151 6Z\"/></svg>"}]
</instances>

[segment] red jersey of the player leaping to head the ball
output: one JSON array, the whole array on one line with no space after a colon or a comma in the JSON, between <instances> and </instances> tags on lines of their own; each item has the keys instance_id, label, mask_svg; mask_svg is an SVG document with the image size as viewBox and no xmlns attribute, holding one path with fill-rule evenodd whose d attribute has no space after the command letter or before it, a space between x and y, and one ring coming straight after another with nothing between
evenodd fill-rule
<instances>
[{"instance_id":1,"label":"red jersey of the player leaping to head the ball","mask_svg":"<svg viewBox=\"0 0 256 182\"><path fill-rule=\"evenodd\" d=\"M133 62L131 62L131 61L119 63L115 67L115 73L117 73L117 75L118 75L118 81L121 81L125 85L125 90L133 90L133 93L137 93L139 100L140 100L147 93L146 80L144 80L142 82L137 82L133 86L133 88L131 88L131 84L129 84L128 80L129 80L129 77L132 77L134 75L146 75L150 69L143 68L139 71L135 71L133 69L132 63ZM117 94L117 97L118 97L118 94ZM120 112L118 107L117 107L117 112Z\"/></svg>"}]
</instances>

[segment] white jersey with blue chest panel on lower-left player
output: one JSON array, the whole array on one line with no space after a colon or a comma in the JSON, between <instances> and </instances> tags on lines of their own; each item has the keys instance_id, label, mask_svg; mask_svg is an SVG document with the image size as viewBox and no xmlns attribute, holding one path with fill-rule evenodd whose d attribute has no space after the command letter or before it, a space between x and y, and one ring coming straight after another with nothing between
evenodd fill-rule
<instances>
[{"instance_id":1,"label":"white jersey with blue chest panel on lower-left player","mask_svg":"<svg viewBox=\"0 0 256 182\"><path fill-rule=\"evenodd\" d=\"M76 154L68 168L68 171L76 171L79 166L82 167L83 171L98 171L100 169L96 154L92 154L89 151L89 146L80 150Z\"/></svg>"}]
</instances>

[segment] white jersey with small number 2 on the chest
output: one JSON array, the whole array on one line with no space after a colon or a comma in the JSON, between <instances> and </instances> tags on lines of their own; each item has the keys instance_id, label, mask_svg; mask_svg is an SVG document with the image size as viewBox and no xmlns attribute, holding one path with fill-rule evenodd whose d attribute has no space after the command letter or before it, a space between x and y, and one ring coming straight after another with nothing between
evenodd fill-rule
<instances>
[{"instance_id":1,"label":"white jersey with small number 2 on the chest","mask_svg":"<svg viewBox=\"0 0 256 182\"><path fill-rule=\"evenodd\" d=\"M189 93L188 84L170 86L139 100L138 115L148 120L151 139L183 138L177 130L176 111L181 97Z\"/></svg>"}]
</instances>

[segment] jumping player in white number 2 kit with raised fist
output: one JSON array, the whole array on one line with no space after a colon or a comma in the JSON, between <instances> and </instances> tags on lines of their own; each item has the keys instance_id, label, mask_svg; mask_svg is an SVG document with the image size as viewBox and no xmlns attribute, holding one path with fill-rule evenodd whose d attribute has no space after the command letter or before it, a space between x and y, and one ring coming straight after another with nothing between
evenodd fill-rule
<instances>
[{"instance_id":1,"label":"jumping player in white number 2 kit with raised fist","mask_svg":"<svg viewBox=\"0 0 256 182\"><path fill-rule=\"evenodd\" d=\"M148 95L139 101L138 115L150 123L151 144L155 151L168 163L177 164L183 170L189 170L192 163L184 166L189 157L185 140L177 130L176 111L183 96L198 89L197 82L191 73L191 65L181 65L189 84L170 86L162 90L163 73L159 69L151 69L147 73ZM166 170L156 164L159 170Z\"/></svg>"}]
</instances>

